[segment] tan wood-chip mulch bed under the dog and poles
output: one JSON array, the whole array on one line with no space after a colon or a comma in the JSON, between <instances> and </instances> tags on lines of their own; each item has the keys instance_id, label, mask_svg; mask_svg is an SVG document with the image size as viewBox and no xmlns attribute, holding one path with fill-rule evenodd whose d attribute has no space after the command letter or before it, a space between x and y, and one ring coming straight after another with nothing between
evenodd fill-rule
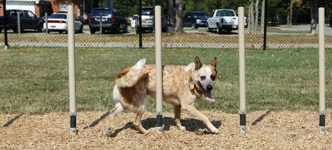
<instances>
[{"instance_id":1,"label":"tan wood-chip mulch bed under the dog and poles","mask_svg":"<svg viewBox=\"0 0 332 150\"><path fill-rule=\"evenodd\" d=\"M122 112L116 131L107 137L108 112L77 113L77 135L69 135L69 112L40 115L0 114L0 149L331 149L332 109L326 112L326 134L318 134L318 112L255 111L247 114L247 132L239 134L238 114L202 111L219 129L182 113L180 131L173 113L163 114L164 131L155 131L155 113L145 112L146 135L133 129L133 113ZM106 116L106 117L105 117ZM105 118L104 118L105 117Z\"/></svg>"}]
</instances>

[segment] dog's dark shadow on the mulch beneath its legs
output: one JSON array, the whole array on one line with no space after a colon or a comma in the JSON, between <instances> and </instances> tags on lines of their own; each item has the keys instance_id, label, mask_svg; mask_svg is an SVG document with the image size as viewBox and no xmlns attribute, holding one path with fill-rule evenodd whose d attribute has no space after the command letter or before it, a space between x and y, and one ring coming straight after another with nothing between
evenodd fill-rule
<instances>
[{"instance_id":1,"label":"dog's dark shadow on the mulch beneath its legs","mask_svg":"<svg viewBox=\"0 0 332 150\"><path fill-rule=\"evenodd\" d=\"M162 118L162 123L164 125L163 130L170 130L171 126L176 126L175 125L175 121L174 118L172 117L163 117ZM219 128L221 125L221 121L220 120L214 120L211 121L211 123L216 127ZM181 119L181 124L182 126L186 127L186 130L191 131L191 132L197 132L199 129L201 128L207 128L207 126L199 119L194 119L194 118L190 118L190 119ZM145 129L149 129L152 127L155 127L156 125L156 118L146 118L142 120L142 126ZM133 127L133 122L128 122L126 123L126 125L124 125L121 128L116 129L111 135L110 137L115 137L117 136L117 134L119 132L121 132L124 129L127 128L134 128ZM210 131L204 131L202 132L202 134L213 134Z\"/></svg>"}]
</instances>

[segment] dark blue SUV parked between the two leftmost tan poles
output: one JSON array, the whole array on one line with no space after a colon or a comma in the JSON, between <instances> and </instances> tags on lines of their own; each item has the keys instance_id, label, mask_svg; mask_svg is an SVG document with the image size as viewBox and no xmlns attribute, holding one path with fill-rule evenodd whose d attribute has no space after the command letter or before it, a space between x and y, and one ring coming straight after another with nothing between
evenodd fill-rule
<instances>
[{"instance_id":1,"label":"dark blue SUV parked between the two leftmost tan poles","mask_svg":"<svg viewBox=\"0 0 332 150\"><path fill-rule=\"evenodd\" d=\"M117 9L112 8L94 8L89 17L89 27L91 34L100 30L100 14L102 15L102 33L111 31L119 33L120 30L127 33L127 21L124 15Z\"/></svg>"}]
</instances>

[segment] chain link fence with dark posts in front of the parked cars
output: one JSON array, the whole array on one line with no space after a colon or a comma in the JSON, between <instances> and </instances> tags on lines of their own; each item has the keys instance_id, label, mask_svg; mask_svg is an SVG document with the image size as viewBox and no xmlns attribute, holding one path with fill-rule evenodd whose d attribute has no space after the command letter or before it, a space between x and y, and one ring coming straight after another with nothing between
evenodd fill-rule
<instances>
[{"instance_id":1,"label":"chain link fence with dark posts in front of the parked cars","mask_svg":"<svg viewBox=\"0 0 332 150\"><path fill-rule=\"evenodd\" d=\"M263 49L264 27L268 48L318 47L318 7L332 47L331 0L0 0L0 45L66 47L68 4L77 47L153 47L153 5L162 7L163 47L236 48L238 6L246 47Z\"/></svg>"}]
</instances>

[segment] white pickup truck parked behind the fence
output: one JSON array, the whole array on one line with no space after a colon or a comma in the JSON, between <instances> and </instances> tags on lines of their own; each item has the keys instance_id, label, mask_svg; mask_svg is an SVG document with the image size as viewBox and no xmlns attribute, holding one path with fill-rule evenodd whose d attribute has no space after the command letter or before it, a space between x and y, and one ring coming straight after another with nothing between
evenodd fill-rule
<instances>
[{"instance_id":1,"label":"white pickup truck parked behind the fence","mask_svg":"<svg viewBox=\"0 0 332 150\"><path fill-rule=\"evenodd\" d=\"M206 31L211 32L217 29L217 33L221 34L221 30L230 32L238 28L238 20L235 11L232 9L217 9L213 12L213 16L209 17L206 25ZM247 25L247 19L244 17L244 26Z\"/></svg>"}]
</instances>

